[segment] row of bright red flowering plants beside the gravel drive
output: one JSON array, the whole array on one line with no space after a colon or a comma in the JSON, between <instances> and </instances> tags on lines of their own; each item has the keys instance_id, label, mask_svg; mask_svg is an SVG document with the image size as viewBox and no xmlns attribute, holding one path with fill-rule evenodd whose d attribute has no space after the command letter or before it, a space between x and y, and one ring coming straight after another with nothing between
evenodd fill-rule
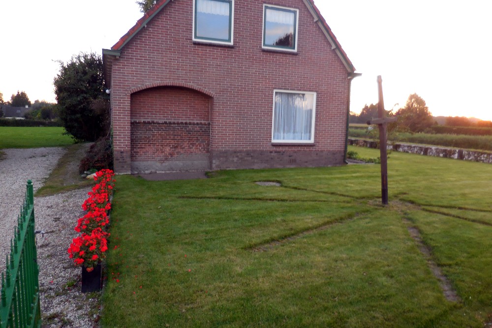
<instances>
[{"instance_id":1,"label":"row of bright red flowering plants beside the gravel drive","mask_svg":"<svg viewBox=\"0 0 492 328\"><path fill-rule=\"evenodd\" d=\"M78 267L84 266L91 272L106 257L108 250L106 227L109 224L108 211L111 209L109 194L113 190L114 173L111 170L100 170L95 173L97 182L89 198L82 205L87 213L81 217L75 231L82 235L74 238L68 247L68 254Z\"/></svg>"}]
</instances>

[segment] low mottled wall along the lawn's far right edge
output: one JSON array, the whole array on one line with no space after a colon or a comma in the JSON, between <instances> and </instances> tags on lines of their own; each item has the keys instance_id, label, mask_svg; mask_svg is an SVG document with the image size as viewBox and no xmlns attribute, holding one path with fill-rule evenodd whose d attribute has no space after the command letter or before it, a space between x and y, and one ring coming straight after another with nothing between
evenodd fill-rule
<instances>
[{"instance_id":1,"label":"low mottled wall along the lawn's far right edge","mask_svg":"<svg viewBox=\"0 0 492 328\"><path fill-rule=\"evenodd\" d=\"M375 140L348 138L348 144L352 146L379 148L379 142ZM404 143L388 143L388 150L408 152L412 154L454 158L465 161L482 162L492 164L492 153L478 150L445 148L439 146L413 145Z\"/></svg>"}]
</instances>

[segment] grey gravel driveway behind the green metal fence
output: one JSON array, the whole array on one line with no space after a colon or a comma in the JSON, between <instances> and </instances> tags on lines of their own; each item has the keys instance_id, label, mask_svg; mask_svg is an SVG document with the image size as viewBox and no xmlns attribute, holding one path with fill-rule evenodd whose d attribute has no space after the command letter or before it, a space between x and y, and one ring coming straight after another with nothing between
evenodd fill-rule
<instances>
[{"instance_id":1,"label":"grey gravel driveway behind the green metal fence","mask_svg":"<svg viewBox=\"0 0 492 328\"><path fill-rule=\"evenodd\" d=\"M5 254L24 202L26 182L32 180L34 192L42 186L58 160L62 148L5 149L0 161L0 264L5 268ZM80 292L81 269L68 258L67 248L77 233L73 230L83 215L82 203L91 188L54 196L35 197L39 287L42 327L98 327L100 293Z\"/></svg>"}]
</instances>

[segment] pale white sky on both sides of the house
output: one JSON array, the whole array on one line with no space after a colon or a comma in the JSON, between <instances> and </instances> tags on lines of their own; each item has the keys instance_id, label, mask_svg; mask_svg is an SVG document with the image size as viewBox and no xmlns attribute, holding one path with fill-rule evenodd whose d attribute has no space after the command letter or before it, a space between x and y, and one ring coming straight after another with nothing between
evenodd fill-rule
<instances>
[{"instance_id":1,"label":"pale white sky on both sides of the house","mask_svg":"<svg viewBox=\"0 0 492 328\"><path fill-rule=\"evenodd\" d=\"M188 0L189 1L189 0ZM238 1L243 0L236 0ZM246 1L246 0L244 0ZM315 0L349 59L351 111L417 93L434 116L492 120L492 2ZM79 52L101 54L142 16L135 0L0 0L0 92L56 102L53 79ZM190 35L191 37L191 35ZM395 105L398 104L398 105Z\"/></svg>"}]
</instances>

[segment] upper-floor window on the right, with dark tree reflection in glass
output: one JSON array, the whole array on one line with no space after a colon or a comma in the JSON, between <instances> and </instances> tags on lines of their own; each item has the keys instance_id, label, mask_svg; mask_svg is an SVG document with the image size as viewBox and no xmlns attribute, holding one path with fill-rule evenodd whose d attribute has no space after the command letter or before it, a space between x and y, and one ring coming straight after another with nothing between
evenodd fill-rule
<instances>
[{"instance_id":1,"label":"upper-floor window on the right, with dark tree reflection in glass","mask_svg":"<svg viewBox=\"0 0 492 328\"><path fill-rule=\"evenodd\" d=\"M297 51L299 10L263 5L263 48Z\"/></svg>"}]
</instances>

